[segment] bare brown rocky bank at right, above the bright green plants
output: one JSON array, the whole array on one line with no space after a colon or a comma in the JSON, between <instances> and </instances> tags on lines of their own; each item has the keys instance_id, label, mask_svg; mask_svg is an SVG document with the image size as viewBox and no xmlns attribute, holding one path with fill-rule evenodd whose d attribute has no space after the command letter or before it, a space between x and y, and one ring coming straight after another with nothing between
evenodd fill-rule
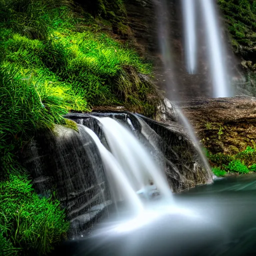
<instances>
[{"instance_id":1,"label":"bare brown rocky bank at right, above the bright green plants","mask_svg":"<svg viewBox=\"0 0 256 256\"><path fill-rule=\"evenodd\" d=\"M203 98L184 102L181 109L212 153L237 153L256 142L256 98Z\"/></svg>"}]
</instances>

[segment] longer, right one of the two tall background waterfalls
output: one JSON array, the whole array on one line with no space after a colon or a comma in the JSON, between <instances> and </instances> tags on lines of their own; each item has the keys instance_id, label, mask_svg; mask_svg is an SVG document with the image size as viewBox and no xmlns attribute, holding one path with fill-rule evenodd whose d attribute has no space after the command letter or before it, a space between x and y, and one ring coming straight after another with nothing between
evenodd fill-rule
<instances>
[{"instance_id":1,"label":"longer, right one of the two tall background waterfalls","mask_svg":"<svg viewBox=\"0 0 256 256\"><path fill-rule=\"evenodd\" d=\"M225 50L221 42L220 28L212 0L200 0L206 32L207 52L210 62L213 97L231 96L225 65Z\"/></svg>"}]
</instances>

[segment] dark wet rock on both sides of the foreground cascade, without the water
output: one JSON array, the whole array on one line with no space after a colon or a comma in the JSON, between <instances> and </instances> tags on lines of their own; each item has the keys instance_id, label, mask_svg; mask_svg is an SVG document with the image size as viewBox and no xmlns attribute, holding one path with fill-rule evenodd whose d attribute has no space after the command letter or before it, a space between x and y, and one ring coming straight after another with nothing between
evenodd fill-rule
<instances>
[{"instance_id":1,"label":"dark wet rock on both sides of the foreground cascade, without the water","mask_svg":"<svg viewBox=\"0 0 256 256\"><path fill-rule=\"evenodd\" d=\"M169 105L166 102L165 107ZM130 129L165 169L173 192L212 181L211 172L202 167L186 130L169 120L171 111L164 116L164 122L125 111L70 113L65 117L77 123L78 132L56 125L54 132L34 137L24 152L25 167L37 193L48 196L56 192L71 223L70 235L77 235L99 221L111 203L100 154L84 128L92 129L108 148L101 124L93 116L111 117Z\"/></svg>"}]
</instances>

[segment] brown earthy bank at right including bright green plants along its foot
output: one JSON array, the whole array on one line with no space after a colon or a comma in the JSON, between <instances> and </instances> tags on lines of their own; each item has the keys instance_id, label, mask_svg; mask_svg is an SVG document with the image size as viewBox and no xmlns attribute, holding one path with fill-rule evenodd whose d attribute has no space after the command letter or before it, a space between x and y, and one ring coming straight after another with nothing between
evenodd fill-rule
<instances>
[{"instance_id":1,"label":"brown earthy bank at right including bright green plants along its foot","mask_svg":"<svg viewBox=\"0 0 256 256\"><path fill-rule=\"evenodd\" d=\"M245 174L255 171L256 98L203 98L182 109L206 149L213 171Z\"/></svg>"}]
</instances>

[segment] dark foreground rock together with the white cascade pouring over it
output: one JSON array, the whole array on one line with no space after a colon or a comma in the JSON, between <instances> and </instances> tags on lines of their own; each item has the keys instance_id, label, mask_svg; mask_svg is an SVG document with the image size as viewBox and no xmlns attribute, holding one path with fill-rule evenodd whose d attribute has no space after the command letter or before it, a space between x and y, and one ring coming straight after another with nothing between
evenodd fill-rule
<instances>
[{"instance_id":1,"label":"dark foreground rock together with the white cascade pouring over it","mask_svg":"<svg viewBox=\"0 0 256 256\"><path fill-rule=\"evenodd\" d=\"M78 131L56 125L54 132L37 133L24 150L24 164L39 194L56 189L70 221L69 237L113 212L118 218L135 215L120 227L135 228L160 209L177 210L171 189L194 186L195 179L208 182L194 144L174 121L163 125L130 112L65 117Z\"/></svg>"}]
</instances>

